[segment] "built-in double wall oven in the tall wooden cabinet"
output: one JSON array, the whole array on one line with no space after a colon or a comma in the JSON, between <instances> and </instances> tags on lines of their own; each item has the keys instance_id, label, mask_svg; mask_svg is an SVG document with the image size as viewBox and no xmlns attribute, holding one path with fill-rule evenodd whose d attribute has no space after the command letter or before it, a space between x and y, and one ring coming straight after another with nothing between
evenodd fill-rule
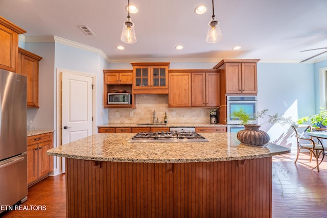
<instances>
[{"instance_id":1,"label":"built-in double wall oven in the tall wooden cabinet","mask_svg":"<svg viewBox=\"0 0 327 218\"><path fill-rule=\"evenodd\" d=\"M250 124L258 124L256 113L258 100L256 95L227 95L227 132L238 132L244 129L241 121L230 116L233 111L243 109L250 115Z\"/></svg>"}]
</instances>

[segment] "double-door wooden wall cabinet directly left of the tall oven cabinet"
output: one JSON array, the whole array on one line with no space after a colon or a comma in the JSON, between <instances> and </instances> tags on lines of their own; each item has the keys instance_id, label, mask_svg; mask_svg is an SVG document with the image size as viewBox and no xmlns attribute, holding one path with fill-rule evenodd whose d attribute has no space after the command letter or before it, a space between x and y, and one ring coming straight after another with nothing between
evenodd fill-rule
<instances>
[{"instance_id":1,"label":"double-door wooden wall cabinet directly left of the tall oven cabinet","mask_svg":"<svg viewBox=\"0 0 327 218\"><path fill-rule=\"evenodd\" d=\"M192 71L192 107L220 105L220 77L217 70Z\"/></svg>"}]
</instances>

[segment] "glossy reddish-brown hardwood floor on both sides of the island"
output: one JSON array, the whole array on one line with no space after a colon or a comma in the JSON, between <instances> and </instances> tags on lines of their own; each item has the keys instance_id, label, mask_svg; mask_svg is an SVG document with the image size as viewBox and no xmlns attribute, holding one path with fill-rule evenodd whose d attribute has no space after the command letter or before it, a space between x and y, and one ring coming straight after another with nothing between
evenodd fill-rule
<instances>
[{"instance_id":1,"label":"glossy reddish-brown hardwood floor on both sides of the island","mask_svg":"<svg viewBox=\"0 0 327 218\"><path fill-rule=\"evenodd\" d=\"M308 155L301 154L296 164L295 157L295 152L273 157L272 217L327 217L327 157L319 173ZM22 205L45 205L46 210L8 211L2 217L65 217L65 175L30 187Z\"/></svg>"}]
</instances>

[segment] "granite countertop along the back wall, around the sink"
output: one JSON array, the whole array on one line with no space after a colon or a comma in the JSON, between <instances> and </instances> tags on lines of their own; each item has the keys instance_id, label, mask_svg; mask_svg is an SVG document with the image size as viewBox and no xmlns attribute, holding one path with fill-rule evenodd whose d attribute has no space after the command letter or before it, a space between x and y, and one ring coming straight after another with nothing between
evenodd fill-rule
<instances>
[{"instance_id":1,"label":"granite countertop along the back wall, around the sink","mask_svg":"<svg viewBox=\"0 0 327 218\"><path fill-rule=\"evenodd\" d=\"M145 122L147 124L147 122ZM150 124L150 122L149 122ZM211 123L190 123L190 124L180 124L180 123L168 123L167 125L138 125L138 124L103 124L98 127L227 127L223 124L211 124Z\"/></svg>"}]
</instances>

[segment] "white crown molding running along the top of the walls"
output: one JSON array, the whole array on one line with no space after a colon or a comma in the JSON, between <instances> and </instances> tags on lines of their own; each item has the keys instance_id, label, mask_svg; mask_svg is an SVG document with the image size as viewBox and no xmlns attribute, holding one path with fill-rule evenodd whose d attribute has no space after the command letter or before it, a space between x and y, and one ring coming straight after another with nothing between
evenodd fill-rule
<instances>
[{"instance_id":1,"label":"white crown molding running along the top of the walls","mask_svg":"<svg viewBox=\"0 0 327 218\"><path fill-rule=\"evenodd\" d=\"M105 59L108 63L130 63L130 62L197 62L197 63L219 63L223 58L109 58L101 49L81 44L75 41L64 39L58 36L24 36L19 35L22 42L55 42L88 52L96 53ZM327 60L327 56L315 60L306 61L303 64L314 64ZM294 59L261 59L259 63L300 63L301 60Z\"/></svg>"}]
</instances>

